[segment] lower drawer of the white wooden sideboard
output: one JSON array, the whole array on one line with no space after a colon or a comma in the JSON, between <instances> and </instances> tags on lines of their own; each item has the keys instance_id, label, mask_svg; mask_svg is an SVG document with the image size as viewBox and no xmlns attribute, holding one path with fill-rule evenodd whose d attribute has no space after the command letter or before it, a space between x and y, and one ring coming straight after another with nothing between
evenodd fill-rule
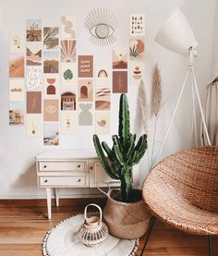
<instances>
[{"instance_id":1,"label":"lower drawer of the white wooden sideboard","mask_svg":"<svg viewBox=\"0 0 218 256\"><path fill-rule=\"evenodd\" d=\"M83 176L69 176L69 177L40 177L40 187L67 187L67 186L89 186L89 179L86 175Z\"/></svg>"}]
</instances>

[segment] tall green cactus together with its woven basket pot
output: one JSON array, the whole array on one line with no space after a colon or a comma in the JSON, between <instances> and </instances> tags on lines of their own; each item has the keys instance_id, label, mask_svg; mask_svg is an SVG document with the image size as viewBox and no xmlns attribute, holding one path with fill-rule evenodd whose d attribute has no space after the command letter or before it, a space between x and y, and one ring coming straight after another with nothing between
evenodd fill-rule
<instances>
[{"instance_id":1,"label":"tall green cactus together with its woven basket pot","mask_svg":"<svg viewBox=\"0 0 218 256\"><path fill-rule=\"evenodd\" d=\"M112 149L107 143L93 135L94 147L103 169L113 179L120 180L120 190L109 190L103 216L109 231L117 238L139 238L146 232L150 214L148 213L139 189L132 188L133 165L139 164L147 150L147 135L130 133L127 95L121 94L119 103L118 135L112 136ZM106 152L106 155L104 152Z\"/></svg>"}]
</instances>

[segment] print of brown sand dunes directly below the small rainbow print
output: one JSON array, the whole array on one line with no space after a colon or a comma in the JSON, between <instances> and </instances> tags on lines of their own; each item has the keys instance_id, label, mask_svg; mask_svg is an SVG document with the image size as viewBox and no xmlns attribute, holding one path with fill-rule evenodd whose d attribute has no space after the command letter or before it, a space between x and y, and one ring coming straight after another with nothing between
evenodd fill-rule
<instances>
[{"instance_id":1,"label":"print of brown sand dunes directly below the small rainbow print","mask_svg":"<svg viewBox=\"0 0 218 256\"><path fill-rule=\"evenodd\" d=\"M102 88L95 91L95 110L110 110L111 89Z\"/></svg>"}]
</instances>

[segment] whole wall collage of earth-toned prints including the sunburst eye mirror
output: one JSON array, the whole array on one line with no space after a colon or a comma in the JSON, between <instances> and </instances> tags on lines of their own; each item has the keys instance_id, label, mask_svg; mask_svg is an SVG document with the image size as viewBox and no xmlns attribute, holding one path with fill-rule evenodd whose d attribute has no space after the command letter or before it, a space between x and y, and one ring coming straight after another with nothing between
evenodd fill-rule
<instances>
[{"instance_id":1,"label":"whole wall collage of earth-toned prints including the sunburst eye mirror","mask_svg":"<svg viewBox=\"0 0 218 256\"><path fill-rule=\"evenodd\" d=\"M59 145L59 135L94 126L110 134L112 93L126 93L145 76L145 18L129 18L129 45L118 46L118 19L109 9L93 9L85 18L90 43L112 45L112 63L78 55L75 17L61 17L59 27L26 20L26 30L9 32L9 125L24 126L28 138ZM81 49L82 50L82 49Z\"/></svg>"}]
</instances>

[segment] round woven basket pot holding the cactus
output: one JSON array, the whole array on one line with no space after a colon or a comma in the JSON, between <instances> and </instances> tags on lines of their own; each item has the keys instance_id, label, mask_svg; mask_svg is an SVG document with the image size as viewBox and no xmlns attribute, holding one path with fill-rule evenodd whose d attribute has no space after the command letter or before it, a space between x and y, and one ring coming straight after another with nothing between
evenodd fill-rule
<instances>
[{"instance_id":1,"label":"round woven basket pot holding the cactus","mask_svg":"<svg viewBox=\"0 0 218 256\"><path fill-rule=\"evenodd\" d=\"M107 202L103 209L103 218L110 234L123 239L142 237L151 219L144 201L142 199L136 202L116 201L113 195L115 191L117 190L108 191Z\"/></svg>"}]
</instances>

